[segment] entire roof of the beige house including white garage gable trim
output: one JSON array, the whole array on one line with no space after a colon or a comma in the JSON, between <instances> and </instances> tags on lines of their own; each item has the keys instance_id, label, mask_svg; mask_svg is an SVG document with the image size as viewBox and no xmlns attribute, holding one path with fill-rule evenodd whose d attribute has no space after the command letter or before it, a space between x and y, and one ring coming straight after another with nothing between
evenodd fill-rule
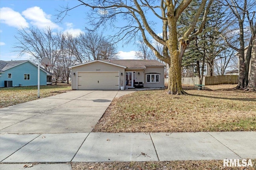
<instances>
[{"instance_id":1,"label":"entire roof of the beige house including white garage gable trim","mask_svg":"<svg viewBox=\"0 0 256 170\"><path fill-rule=\"evenodd\" d=\"M165 64L160 63L157 60L94 60L94 61L90 61L87 63L74 65L69 68L73 68L76 66L82 66L82 65L90 64L90 63L94 63L94 62L111 64L111 65L120 66L123 68L142 68L142 69L144 69L149 66L161 66L161 67L165 66Z\"/></svg>"}]
</instances>

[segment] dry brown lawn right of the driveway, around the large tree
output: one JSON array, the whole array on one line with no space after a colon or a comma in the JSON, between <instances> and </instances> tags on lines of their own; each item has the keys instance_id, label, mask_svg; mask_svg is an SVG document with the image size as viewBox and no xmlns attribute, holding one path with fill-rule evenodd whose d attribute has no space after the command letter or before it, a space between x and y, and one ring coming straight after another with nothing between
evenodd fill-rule
<instances>
[{"instance_id":1,"label":"dry brown lawn right of the driveway, around the large tree","mask_svg":"<svg viewBox=\"0 0 256 170\"><path fill-rule=\"evenodd\" d=\"M180 96L138 91L114 99L93 131L256 131L256 93L233 87L207 86Z\"/></svg>"}]
</instances>

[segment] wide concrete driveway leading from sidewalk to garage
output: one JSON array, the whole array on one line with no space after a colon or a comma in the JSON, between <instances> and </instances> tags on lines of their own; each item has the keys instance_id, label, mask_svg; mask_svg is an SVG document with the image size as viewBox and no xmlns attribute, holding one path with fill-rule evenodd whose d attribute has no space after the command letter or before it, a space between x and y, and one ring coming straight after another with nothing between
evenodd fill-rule
<instances>
[{"instance_id":1,"label":"wide concrete driveway leading from sidewalk to garage","mask_svg":"<svg viewBox=\"0 0 256 170\"><path fill-rule=\"evenodd\" d=\"M91 132L112 100L134 91L75 90L0 109L0 133Z\"/></svg>"}]
</instances>

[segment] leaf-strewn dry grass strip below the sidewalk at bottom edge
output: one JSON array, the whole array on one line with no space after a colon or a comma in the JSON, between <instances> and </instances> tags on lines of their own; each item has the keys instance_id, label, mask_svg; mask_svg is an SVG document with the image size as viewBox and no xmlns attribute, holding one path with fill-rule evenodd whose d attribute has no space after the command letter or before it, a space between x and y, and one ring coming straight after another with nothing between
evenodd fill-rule
<instances>
[{"instance_id":1,"label":"leaf-strewn dry grass strip below the sidewalk at bottom edge","mask_svg":"<svg viewBox=\"0 0 256 170\"><path fill-rule=\"evenodd\" d=\"M72 170L255 170L253 167L223 167L223 160L185 160L159 162L78 162Z\"/></svg>"}]
</instances>

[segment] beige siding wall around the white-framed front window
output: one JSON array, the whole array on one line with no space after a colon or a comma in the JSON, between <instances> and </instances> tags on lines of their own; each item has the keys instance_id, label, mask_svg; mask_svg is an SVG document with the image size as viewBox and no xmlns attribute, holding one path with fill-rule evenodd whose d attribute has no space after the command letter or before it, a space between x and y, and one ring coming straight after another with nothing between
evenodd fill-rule
<instances>
[{"instance_id":1,"label":"beige siding wall around the white-framed front window","mask_svg":"<svg viewBox=\"0 0 256 170\"><path fill-rule=\"evenodd\" d=\"M147 73L159 73L159 83L147 83ZM164 67L147 67L144 71L144 87L164 87Z\"/></svg>"}]
</instances>

